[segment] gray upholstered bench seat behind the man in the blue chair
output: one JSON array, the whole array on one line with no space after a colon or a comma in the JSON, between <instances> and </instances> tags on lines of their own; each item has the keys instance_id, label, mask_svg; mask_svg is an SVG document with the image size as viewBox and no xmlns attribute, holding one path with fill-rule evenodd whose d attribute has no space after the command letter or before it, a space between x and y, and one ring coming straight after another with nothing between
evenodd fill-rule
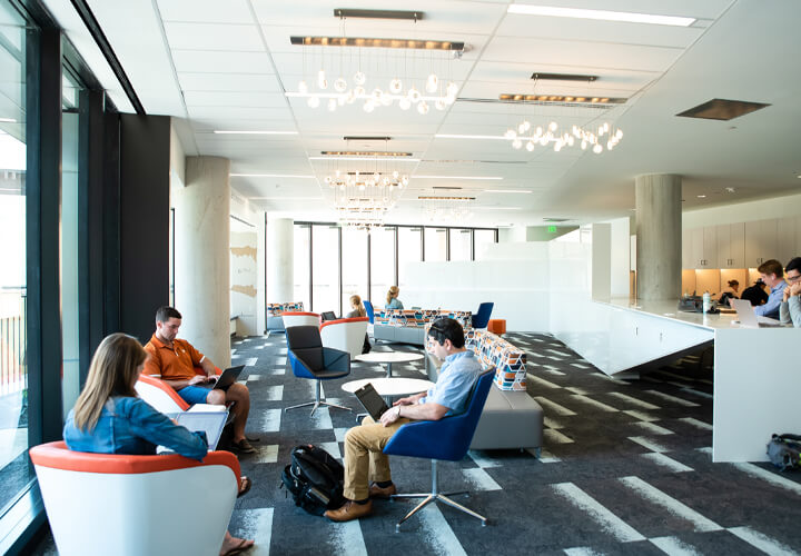
<instances>
[{"instance_id":1,"label":"gray upholstered bench seat behind the man in the blue chair","mask_svg":"<svg viewBox=\"0 0 801 556\"><path fill-rule=\"evenodd\" d=\"M428 354L428 380L436 381L441 366L442 361ZM542 440L543 410L540 404L525 391L491 386L471 449L533 448L538 457Z\"/></svg>"}]
</instances>

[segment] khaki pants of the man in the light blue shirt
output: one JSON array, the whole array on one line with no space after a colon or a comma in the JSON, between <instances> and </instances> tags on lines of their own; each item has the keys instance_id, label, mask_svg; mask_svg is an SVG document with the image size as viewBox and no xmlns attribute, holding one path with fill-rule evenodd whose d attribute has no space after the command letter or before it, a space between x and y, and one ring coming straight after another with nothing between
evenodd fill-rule
<instances>
[{"instance_id":1,"label":"khaki pants of the man in the light blue shirt","mask_svg":"<svg viewBox=\"0 0 801 556\"><path fill-rule=\"evenodd\" d=\"M364 500L369 496L369 481L392 480L389 457L383 454L389 438L408 419L398 419L388 427L368 415L362 425L345 435L345 498Z\"/></svg>"}]
</instances>

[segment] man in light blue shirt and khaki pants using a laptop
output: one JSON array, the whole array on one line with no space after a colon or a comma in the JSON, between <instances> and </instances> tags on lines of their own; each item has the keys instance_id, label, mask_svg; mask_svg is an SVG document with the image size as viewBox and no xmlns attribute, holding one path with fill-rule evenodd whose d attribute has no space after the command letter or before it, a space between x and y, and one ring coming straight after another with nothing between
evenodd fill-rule
<instances>
[{"instance_id":1,"label":"man in light blue shirt and khaki pants using a laptop","mask_svg":"<svg viewBox=\"0 0 801 556\"><path fill-rule=\"evenodd\" d=\"M332 522L349 522L370 513L370 498L388 498L397 489L392 481L389 458L384 446L402 425L414 420L439 420L465 410L473 384L482 374L473 351L465 349L462 325L441 318L428 329L431 350L445 359L439 378L428 391L400 398L375 423L369 416L345 435L345 488L347 502L325 516ZM372 475L372 476L370 476ZM370 485L369 480L374 484Z\"/></svg>"}]
</instances>

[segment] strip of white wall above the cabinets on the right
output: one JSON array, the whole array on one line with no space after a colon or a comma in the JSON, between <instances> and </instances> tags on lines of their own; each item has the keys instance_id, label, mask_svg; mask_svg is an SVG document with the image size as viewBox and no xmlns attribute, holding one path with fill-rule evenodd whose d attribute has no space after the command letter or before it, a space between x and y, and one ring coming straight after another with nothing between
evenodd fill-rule
<instances>
[{"instance_id":1,"label":"strip of white wall above the cabinets on the right","mask_svg":"<svg viewBox=\"0 0 801 556\"><path fill-rule=\"evenodd\" d=\"M723 207L685 210L682 228L702 228L721 224L748 222L801 215L801 195L738 202Z\"/></svg>"}]
</instances>

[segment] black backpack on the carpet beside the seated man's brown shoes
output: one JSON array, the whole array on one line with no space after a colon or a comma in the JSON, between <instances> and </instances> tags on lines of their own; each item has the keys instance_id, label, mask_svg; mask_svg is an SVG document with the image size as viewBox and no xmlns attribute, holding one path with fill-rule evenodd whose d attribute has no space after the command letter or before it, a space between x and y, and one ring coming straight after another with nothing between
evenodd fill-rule
<instances>
[{"instance_id":1,"label":"black backpack on the carpet beside the seated man's brown shoes","mask_svg":"<svg viewBox=\"0 0 801 556\"><path fill-rule=\"evenodd\" d=\"M296 506L322 516L345 503L343 481L345 469L330 454L307 444L291 451L291 464L281 473L281 486L291 493Z\"/></svg>"}]
</instances>

